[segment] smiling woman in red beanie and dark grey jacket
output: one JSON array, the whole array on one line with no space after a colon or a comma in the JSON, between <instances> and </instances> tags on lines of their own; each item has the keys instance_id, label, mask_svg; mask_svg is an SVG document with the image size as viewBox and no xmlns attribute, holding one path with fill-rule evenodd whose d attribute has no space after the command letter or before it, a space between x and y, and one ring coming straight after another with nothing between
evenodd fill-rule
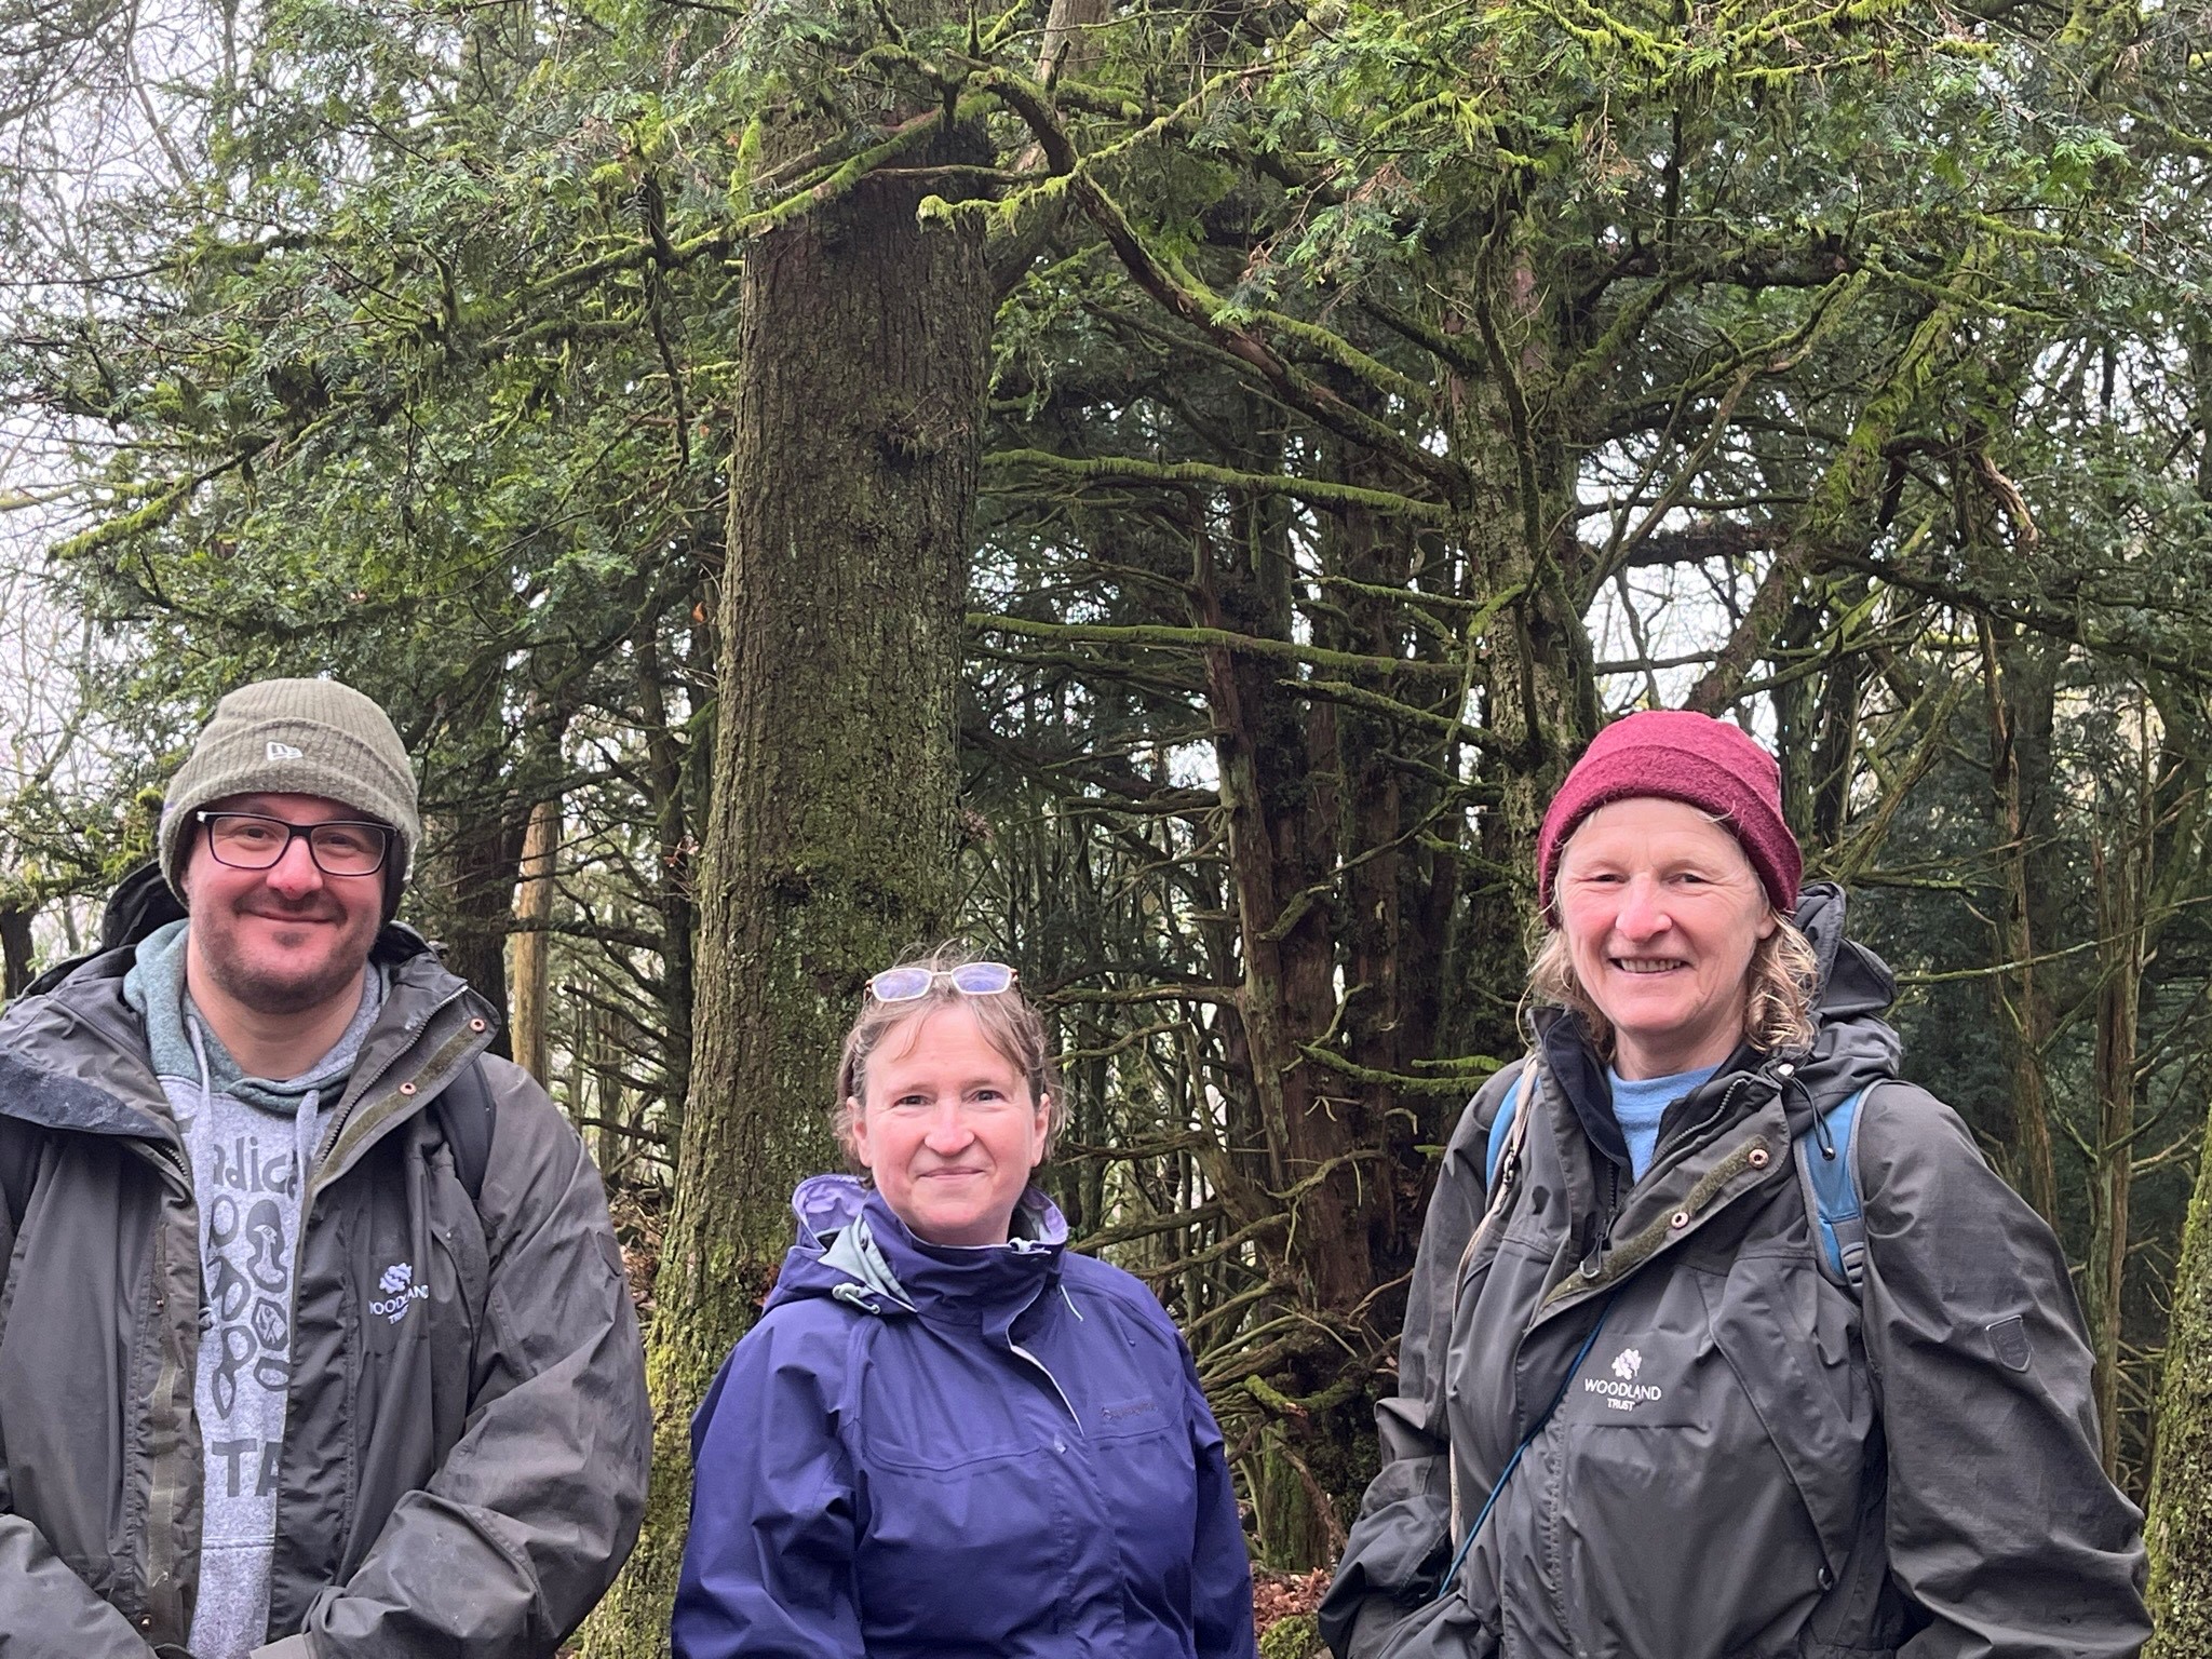
<instances>
[{"instance_id":1,"label":"smiling woman in red beanie and dark grey jacket","mask_svg":"<svg viewBox=\"0 0 2212 1659\"><path fill-rule=\"evenodd\" d=\"M1898 1082L1774 761L1630 714L1537 841L1528 1060L1444 1152L1323 1632L1349 1659L2126 1659L2051 1230Z\"/></svg>"}]
</instances>

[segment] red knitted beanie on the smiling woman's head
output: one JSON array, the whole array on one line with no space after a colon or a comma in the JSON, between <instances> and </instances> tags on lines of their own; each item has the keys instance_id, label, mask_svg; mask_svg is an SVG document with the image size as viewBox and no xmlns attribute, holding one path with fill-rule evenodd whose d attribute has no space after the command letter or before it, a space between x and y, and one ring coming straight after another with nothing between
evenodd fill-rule
<instances>
[{"instance_id":1,"label":"red knitted beanie on the smiling woman's head","mask_svg":"<svg viewBox=\"0 0 2212 1659\"><path fill-rule=\"evenodd\" d=\"M1796 836L1783 823L1783 774L1774 757L1741 726L1710 714L1655 708L1601 730L1566 774L1559 794L1551 799L1544 830L1535 841L1535 883L1546 922L1555 925L1551 878L1559 867L1559 847L1575 834L1575 825L1608 801L1637 794L1686 801L1728 818L1774 909L1785 916L1796 909L1805 863Z\"/></svg>"}]
</instances>

